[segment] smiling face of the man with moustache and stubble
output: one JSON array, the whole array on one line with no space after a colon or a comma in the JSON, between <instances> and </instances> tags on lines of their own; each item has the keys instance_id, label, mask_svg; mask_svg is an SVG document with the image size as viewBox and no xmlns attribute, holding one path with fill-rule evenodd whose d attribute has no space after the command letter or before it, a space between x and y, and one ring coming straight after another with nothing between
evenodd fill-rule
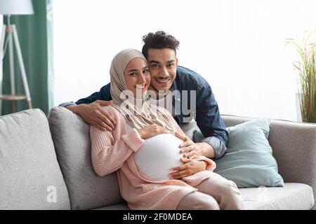
<instances>
[{"instance_id":1,"label":"smiling face of the man with moustache and stubble","mask_svg":"<svg viewBox=\"0 0 316 224\"><path fill-rule=\"evenodd\" d=\"M178 58L169 48L148 50L147 62L152 76L150 89L169 90L176 78Z\"/></svg>"}]
</instances>

